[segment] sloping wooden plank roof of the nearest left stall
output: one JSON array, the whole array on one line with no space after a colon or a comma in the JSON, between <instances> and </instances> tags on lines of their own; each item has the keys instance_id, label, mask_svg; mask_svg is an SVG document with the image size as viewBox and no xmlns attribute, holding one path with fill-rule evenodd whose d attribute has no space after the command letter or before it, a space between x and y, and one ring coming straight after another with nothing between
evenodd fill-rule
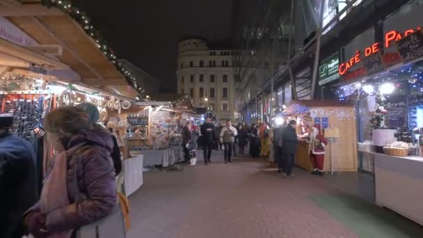
<instances>
[{"instance_id":1,"label":"sloping wooden plank roof of the nearest left stall","mask_svg":"<svg viewBox=\"0 0 423 238\"><path fill-rule=\"evenodd\" d=\"M102 53L102 46L63 10L42 6L40 0L1 0L0 18L5 24L12 23L15 29L10 31L24 38L19 42L13 34L11 38L1 36L0 76L7 71L34 76L29 69L34 63L42 65L53 79L131 98L139 95Z\"/></svg>"}]
</instances>

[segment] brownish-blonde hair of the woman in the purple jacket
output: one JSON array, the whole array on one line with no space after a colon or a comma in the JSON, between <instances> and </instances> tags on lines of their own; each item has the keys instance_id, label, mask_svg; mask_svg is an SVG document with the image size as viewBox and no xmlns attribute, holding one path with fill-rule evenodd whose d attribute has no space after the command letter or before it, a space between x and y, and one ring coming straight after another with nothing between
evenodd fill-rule
<instances>
[{"instance_id":1,"label":"brownish-blonde hair of the woman in the purple jacket","mask_svg":"<svg viewBox=\"0 0 423 238\"><path fill-rule=\"evenodd\" d=\"M65 106L47 113L45 129L54 134L74 135L90 129L88 114L74 106Z\"/></svg>"}]
</instances>

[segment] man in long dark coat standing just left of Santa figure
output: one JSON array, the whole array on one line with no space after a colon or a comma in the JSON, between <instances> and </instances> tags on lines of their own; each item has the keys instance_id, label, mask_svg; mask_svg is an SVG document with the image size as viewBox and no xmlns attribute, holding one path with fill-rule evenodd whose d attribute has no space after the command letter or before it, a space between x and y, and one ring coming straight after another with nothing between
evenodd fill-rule
<instances>
[{"instance_id":1,"label":"man in long dark coat standing just left of Santa figure","mask_svg":"<svg viewBox=\"0 0 423 238\"><path fill-rule=\"evenodd\" d=\"M296 153L296 120L290 120L287 127L282 132L282 151L283 166L285 168L285 177L290 177L292 168L294 168L294 155Z\"/></svg>"}]
</instances>

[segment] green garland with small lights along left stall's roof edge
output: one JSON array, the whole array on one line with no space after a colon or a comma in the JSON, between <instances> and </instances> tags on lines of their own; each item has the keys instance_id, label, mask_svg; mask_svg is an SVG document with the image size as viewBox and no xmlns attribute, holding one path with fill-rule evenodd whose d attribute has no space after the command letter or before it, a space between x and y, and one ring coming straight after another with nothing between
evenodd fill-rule
<instances>
[{"instance_id":1,"label":"green garland with small lights along left stall's roof edge","mask_svg":"<svg viewBox=\"0 0 423 238\"><path fill-rule=\"evenodd\" d=\"M118 61L111 47L109 47L106 40L102 37L99 31L97 31L93 24L91 24L90 17L88 17L85 12L72 6L72 2L69 0L41 0L41 3L43 6L47 6L47 8L56 7L63 10L65 13L67 13L67 15L78 22L83 30L86 31L86 33L90 35L93 40L95 40L97 47L100 51L102 51L104 56L106 56L106 58L111 61L113 65L115 65L116 69L118 69L125 76L128 84L137 90L141 96L144 94L145 91L143 88L141 88L141 86L138 85L134 74L131 74L127 69L125 69L125 67L122 66L122 63Z\"/></svg>"}]
</instances>

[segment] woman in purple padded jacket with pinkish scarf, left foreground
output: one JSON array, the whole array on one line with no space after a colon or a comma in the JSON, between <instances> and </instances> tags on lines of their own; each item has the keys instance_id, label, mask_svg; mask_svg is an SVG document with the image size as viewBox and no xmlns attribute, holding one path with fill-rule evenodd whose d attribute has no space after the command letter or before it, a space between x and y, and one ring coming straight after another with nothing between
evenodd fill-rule
<instances>
[{"instance_id":1,"label":"woman in purple padded jacket with pinkish scarf, left foreground","mask_svg":"<svg viewBox=\"0 0 423 238\"><path fill-rule=\"evenodd\" d=\"M37 238L68 238L78 228L110 214L116 205L113 141L104 129L93 128L88 115L76 107L51 111L45 129L58 153L40 201L27 212L25 221ZM79 191L74 191L75 182ZM76 203L78 193L86 199Z\"/></svg>"}]
</instances>

